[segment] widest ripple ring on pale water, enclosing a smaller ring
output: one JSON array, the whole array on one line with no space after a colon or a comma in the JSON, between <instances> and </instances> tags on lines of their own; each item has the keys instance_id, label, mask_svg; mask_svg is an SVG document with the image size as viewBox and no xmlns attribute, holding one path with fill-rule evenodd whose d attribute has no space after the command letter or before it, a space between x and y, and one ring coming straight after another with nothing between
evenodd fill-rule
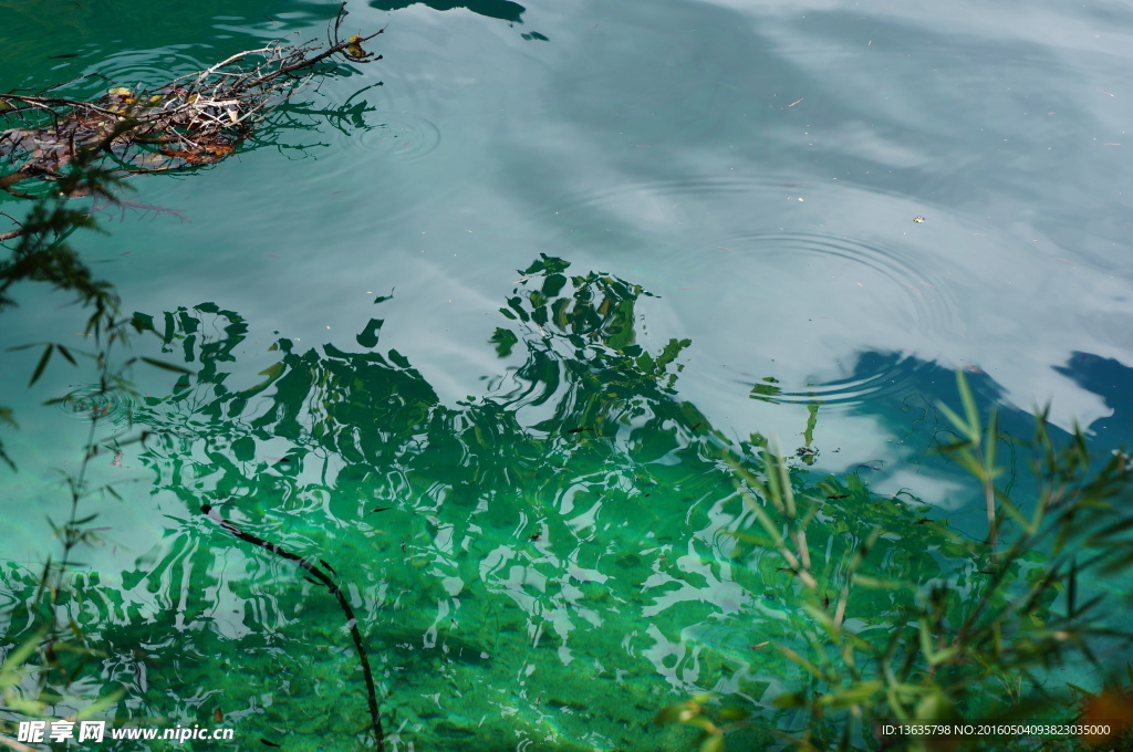
<instances>
[{"instance_id":1,"label":"widest ripple ring on pale water, enclosing a smaller ring","mask_svg":"<svg viewBox=\"0 0 1133 752\"><path fill-rule=\"evenodd\" d=\"M576 187L544 203L560 242L634 271L699 332L698 378L767 402L860 404L900 392L963 335L930 207L850 182L724 172ZM770 379L770 381L767 381ZM775 381L777 379L777 381Z\"/></svg>"}]
</instances>

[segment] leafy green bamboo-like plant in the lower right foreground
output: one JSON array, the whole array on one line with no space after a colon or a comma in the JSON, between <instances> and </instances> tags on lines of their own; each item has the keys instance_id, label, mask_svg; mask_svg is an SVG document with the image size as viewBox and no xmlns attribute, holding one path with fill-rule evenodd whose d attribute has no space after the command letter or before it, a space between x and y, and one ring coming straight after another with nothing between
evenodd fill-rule
<instances>
[{"instance_id":1,"label":"leafy green bamboo-like plant in the lower right foreground","mask_svg":"<svg viewBox=\"0 0 1133 752\"><path fill-rule=\"evenodd\" d=\"M860 484L809 482L765 441L763 471L727 460L761 528L739 537L777 553L794 580L793 597L806 606L808 649L773 646L801 667L802 686L773 699L777 713L721 710L714 698L698 695L665 708L658 723L699 728L701 752L724 750L726 735L741 727L763 728L778 745L807 751L1051 750L1127 737L1133 692L1115 669L1126 670L1133 685L1133 667L1107 666L1094 650L1108 640L1110 655L1127 655L1133 632L1107 623L1114 596L1090 579L1127 576L1133 563L1133 464L1122 452L1092 461L1077 429L1057 447L1041 411L1031 442L1036 494L1024 502L998 482L1006 468L997 456L1005 437L996 411L981 425L963 371L957 386L963 410L940 407L953 428L938 451L977 480L987 530L973 540L920 520L922 532L911 535L949 562L944 576L929 582L870 571L887 557L886 539L901 535L892 524L869 529L862 519L854 535L829 535L832 519L842 516L830 499L853 499L860 512L876 504ZM878 596L887 603L880 612ZM1081 665L1108 673L1106 687L1091 693L1053 678ZM1080 724L1082 730L994 732L1026 719ZM986 724L993 730L905 734L902 724Z\"/></svg>"}]
</instances>

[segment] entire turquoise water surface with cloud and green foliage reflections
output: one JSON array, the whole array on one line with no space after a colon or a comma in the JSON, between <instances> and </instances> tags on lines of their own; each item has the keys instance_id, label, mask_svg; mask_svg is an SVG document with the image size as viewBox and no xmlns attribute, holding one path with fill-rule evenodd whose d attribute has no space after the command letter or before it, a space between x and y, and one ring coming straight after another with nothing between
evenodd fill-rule
<instances>
[{"instance_id":1,"label":"entire turquoise water surface with cloud and green foliage reflections","mask_svg":"<svg viewBox=\"0 0 1133 752\"><path fill-rule=\"evenodd\" d=\"M337 7L48 5L0 5L0 88L160 84ZM1126 9L350 10L385 58L301 94L306 127L131 181L182 219L74 239L152 322L134 353L193 376L138 367L138 396L96 404L90 370L27 390L37 352L6 353L8 605L57 555L91 411L152 431L97 455L123 501L91 501L80 557L82 625L135 651L102 676L119 718L220 710L287 749L366 729L333 598L202 504L333 567L391 747L678 749L649 720L695 692L792 721L770 700L798 674L756 646L806 619L733 535L752 434L976 536L976 489L928 452L954 369L1017 435L1053 401L1127 441ZM5 347L80 347L65 296L18 297ZM939 573L928 512L853 501L832 550L884 522L889 571Z\"/></svg>"}]
</instances>

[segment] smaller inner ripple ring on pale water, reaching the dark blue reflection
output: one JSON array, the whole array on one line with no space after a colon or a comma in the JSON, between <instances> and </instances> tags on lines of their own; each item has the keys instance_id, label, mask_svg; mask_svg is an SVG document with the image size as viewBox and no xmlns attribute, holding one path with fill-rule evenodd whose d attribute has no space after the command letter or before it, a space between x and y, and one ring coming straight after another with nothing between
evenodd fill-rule
<instances>
[{"instance_id":1,"label":"smaller inner ripple ring on pale water, reaching the dark blue reflection","mask_svg":"<svg viewBox=\"0 0 1133 752\"><path fill-rule=\"evenodd\" d=\"M766 332L767 350L791 359L808 350L843 353L833 377L751 374L752 399L766 402L849 405L901 392L935 360L915 349L956 326L951 280L922 251L885 240L742 233L689 254L684 266L685 289L713 282L717 308ZM858 353L855 362L844 361L846 350Z\"/></svg>"}]
</instances>

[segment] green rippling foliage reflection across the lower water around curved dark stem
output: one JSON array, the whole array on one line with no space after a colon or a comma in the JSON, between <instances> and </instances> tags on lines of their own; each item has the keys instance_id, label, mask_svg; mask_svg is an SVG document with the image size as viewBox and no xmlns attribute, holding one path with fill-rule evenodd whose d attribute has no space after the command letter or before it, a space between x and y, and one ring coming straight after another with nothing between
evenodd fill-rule
<instances>
[{"instance_id":1,"label":"green rippling foliage reflection across the lower water around curved dark stem","mask_svg":"<svg viewBox=\"0 0 1133 752\"><path fill-rule=\"evenodd\" d=\"M360 326L357 347L281 339L249 354L254 326L236 311L136 314L193 371L136 418L167 538L129 572L73 584L59 608L100 652L28 694L113 682L128 690L119 724L222 717L289 749L329 735L365 746L365 687L334 600L203 505L332 574L391 746L679 749L687 728L648 721L707 694L670 719L708 724L706 744L726 729L730 746L764 747L812 718L826 734L864 701L811 669L837 663L835 621L862 656L915 641L929 592L940 623L964 623L985 592L996 613L1021 613L1023 629L1002 633L1020 655L1058 623L1060 588L1038 550L976 554L912 495L871 492L861 468L820 476L807 453L782 460L758 434L716 430L676 391L691 342L640 326L640 285L548 256L520 274L485 332L506 371L453 404L381 348L384 318ZM3 576L5 638L18 644L36 629L23 604L37 579ZM900 655L913 682L920 659ZM875 668L854 670L872 682ZM965 692L965 709L997 699L986 682Z\"/></svg>"}]
</instances>

